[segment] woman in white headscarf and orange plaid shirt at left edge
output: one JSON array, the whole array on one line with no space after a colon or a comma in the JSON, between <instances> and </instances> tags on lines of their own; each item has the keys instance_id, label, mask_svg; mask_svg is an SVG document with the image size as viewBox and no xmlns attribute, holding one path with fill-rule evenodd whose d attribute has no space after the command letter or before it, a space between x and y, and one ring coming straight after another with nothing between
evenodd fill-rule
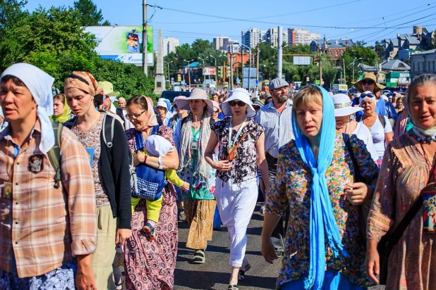
<instances>
[{"instance_id":1,"label":"woman in white headscarf and orange plaid shirt at left edge","mask_svg":"<svg viewBox=\"0 0 436 290\"><path fill-rule=\"evenodd\" d=\"M53 81L27 63L1 75L0 103L10 125L0 133L0 289L96 289L90 268L97 219L87 152L65 129L57 137L60 177L49 158L56 143L49 119Z\"/></svg>"}]
</instances>

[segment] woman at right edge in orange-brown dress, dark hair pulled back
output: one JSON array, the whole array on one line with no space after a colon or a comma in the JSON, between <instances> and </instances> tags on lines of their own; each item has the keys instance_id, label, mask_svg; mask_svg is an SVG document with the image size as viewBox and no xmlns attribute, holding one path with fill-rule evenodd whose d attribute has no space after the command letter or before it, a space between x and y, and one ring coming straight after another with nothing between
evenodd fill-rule
<instances>
[{"instance_id":1,"label":"woman at right edge in orange-brown dress, dark hair pulled back","mask_svg":"<svg viewBox=\"0 0 436 290\"><path fill-rule=\"evenodd\" d=\"M387 147L368 217L366 267L375 282L380 269L377 243L399 225L426 184L435 182L429 175L436 170L436 75L416 77L406 100L413 127ZM434 198L432 191L424 196ZM425 228L425 211L424 206L409 221L392 249L387 289L435 289L436 235Z\"/></svg>"}]
</instances>

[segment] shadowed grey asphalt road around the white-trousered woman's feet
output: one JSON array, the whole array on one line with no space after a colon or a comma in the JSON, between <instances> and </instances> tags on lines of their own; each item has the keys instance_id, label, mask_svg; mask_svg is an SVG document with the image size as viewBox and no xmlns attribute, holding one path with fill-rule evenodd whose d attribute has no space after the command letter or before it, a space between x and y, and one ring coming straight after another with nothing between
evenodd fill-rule
<instances>
[{"instance_id":1,"label":"shadowed grey asphalt road around the white-trousered woman's feet","mask_svg":"<svg viewBox=\"0 0 436 290\"><path fill-rule=\"evenodd\" d=\"M281 261L268 264L260 254L260 232L263 217L259 214L260 203L255 208L248 227L248 245L246 257L251 269L246 279L239 282L239 289L274 289ZM207 245L206 263L190 264L193 251L186 248L188 224L178 222L178 258L174 272L174 289L227 289L230 279L229 238L226 227L215 230L212 241Z\"/></svg>"}]
</instances>

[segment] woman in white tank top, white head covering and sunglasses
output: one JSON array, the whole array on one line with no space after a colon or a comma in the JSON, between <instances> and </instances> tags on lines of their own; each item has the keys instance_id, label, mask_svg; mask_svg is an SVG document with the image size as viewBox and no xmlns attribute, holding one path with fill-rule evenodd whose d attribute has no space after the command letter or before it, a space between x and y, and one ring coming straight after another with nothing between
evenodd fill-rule
<instances>
[{"instance_id":1,"label":"woman in white tank top, white head covering and sunglasses","mask_svg":"<svg viewBox=\"0 0 436 290\"><path fill-rule=\"evenodd\" d=\"M371 92L364 92L361 94L360 100L361 108L363 108L363 116L358 118L359 122L368 127L373 136L373 143L375 151L377 151L379 167L382 165L384 150L387 144L393 139L392 125L389 119L375 113L375 96Z\"/></svg>"}]
</instances>

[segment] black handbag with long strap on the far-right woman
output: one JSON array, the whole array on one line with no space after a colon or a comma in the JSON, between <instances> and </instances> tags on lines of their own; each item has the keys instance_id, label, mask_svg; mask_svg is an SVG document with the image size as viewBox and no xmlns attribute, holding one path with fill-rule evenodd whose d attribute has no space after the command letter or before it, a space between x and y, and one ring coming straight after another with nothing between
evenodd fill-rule
<instances>
[{"instance_id":1,"label":"black handbag with long strap on the far-right woman","mask_svg":"<svg viewBox=\"0 0 436 290\"><path fill-rule=\"evenodd\" d=\"M404 231L410 224L410 222L413 220L413 217L415 217L416 213L420 210L421 206L423 206L423 192L425 191L435 191L436 190L436 184L435 184L435 170L436 170L436 156L433 160L432 169L430 170L430 177L428 178L428 184L425 186L418 196L418 199L416 199L415 203L413 203L413 206L407 211L406 215L404 215L401 222L399 222L398 227L396 229L387 234L385 234L382 239L377 244L377 251L380 255L380 284L386 285L387 282L387 266L389 262L389 256L391 255L392 248L398 243L399 239L401 239L401 236L403 235Z\"/></svg>"}]
</instances>

